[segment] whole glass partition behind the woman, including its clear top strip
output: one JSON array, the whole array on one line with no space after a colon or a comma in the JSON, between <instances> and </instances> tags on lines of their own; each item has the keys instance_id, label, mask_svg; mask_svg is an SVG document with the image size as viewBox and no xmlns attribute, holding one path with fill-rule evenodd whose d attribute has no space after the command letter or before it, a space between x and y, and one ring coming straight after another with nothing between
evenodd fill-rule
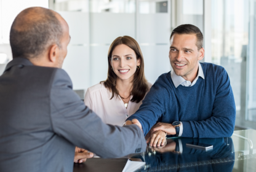
<instances>
[{"instance_id":1,"label":"whole glass partition behind the woman, including its clear top strip","mask_svg":"<svg viewBox=\"0 0 256 172\"><path fill-rule=\"evenodd\" d=\"M70 25L63 69L70 74L74 90L86 90L106 79L108 49L119 36L138 41L149 82L169 72L170 6L170 0L54 1L51 8Z\"/></svg>"}]
</instances>

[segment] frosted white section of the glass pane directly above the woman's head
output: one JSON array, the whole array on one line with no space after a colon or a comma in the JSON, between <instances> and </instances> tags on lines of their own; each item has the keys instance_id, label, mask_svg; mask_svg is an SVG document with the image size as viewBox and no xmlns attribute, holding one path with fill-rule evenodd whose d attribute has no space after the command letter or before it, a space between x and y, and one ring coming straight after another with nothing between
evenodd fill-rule
<instances>
[{"instance_id":1,"label":"frosted white section of the glass pane directly above the woman's head","mask_svg":"<svg viewBox=\"0 0 256 172\"><path fill-rule=\"evenodd\" d=\"M116 37L124 35L135 37L135 14L90 14L91 86L106 80L108 49Z\"/></svg>"}]
</instances>

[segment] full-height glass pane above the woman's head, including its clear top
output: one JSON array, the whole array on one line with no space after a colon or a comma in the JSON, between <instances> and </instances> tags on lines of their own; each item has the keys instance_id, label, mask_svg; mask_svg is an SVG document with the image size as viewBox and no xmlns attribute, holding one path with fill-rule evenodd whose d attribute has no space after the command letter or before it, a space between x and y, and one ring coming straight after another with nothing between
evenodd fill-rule
<instances>
[{"instance_id":1,"label":"full-height glass pane above the woman's head, including its clear top","mask_svg":"<svg viewBox=\"0 0 256 172\"><path fill-rule=\"evenodd\" d=\"M90 86L106 80L108 49L119 36L135 37L135 1L90 1Z\"/></svg>"}]
</instances>

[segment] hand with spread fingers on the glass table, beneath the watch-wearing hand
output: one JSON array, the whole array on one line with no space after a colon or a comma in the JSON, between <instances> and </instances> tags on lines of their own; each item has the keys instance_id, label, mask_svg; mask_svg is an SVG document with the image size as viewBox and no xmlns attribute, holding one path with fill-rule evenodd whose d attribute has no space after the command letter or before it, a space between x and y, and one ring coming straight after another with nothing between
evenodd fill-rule
<instances>
[{"instance_id":1,"label":"hand with spread fingers on the glass table, beneath the watch-wearing hand","mask_svg":"<svg viewBox=\"0 0 256 172\"><path fill-rule=\"evenodd\" d=\"M158 130L151 133L150 138L146 140L146 143L150 143L150 146L164 146L166 144L166 133Z\"/></svg>"}]
</instances>

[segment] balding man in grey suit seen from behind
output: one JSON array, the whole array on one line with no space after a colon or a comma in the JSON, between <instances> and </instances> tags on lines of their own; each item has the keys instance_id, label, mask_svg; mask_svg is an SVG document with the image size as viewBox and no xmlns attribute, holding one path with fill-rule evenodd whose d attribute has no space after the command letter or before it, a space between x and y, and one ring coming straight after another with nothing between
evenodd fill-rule
<instances>
[{"instance_id":1,"label":"balding man in grey suit seen from behind","mask_svg":"<svg viewBox=\"0 0 256 172\"><path fill-rule=\"evenodd\" d=\"M1 172L73 171L75 146L103 158L145 151L139 127L106 125L73 92L60 69L69 42L68 24L52 10L15 18L14 59L0 76Z\"/></svg>"}]
</instances>

